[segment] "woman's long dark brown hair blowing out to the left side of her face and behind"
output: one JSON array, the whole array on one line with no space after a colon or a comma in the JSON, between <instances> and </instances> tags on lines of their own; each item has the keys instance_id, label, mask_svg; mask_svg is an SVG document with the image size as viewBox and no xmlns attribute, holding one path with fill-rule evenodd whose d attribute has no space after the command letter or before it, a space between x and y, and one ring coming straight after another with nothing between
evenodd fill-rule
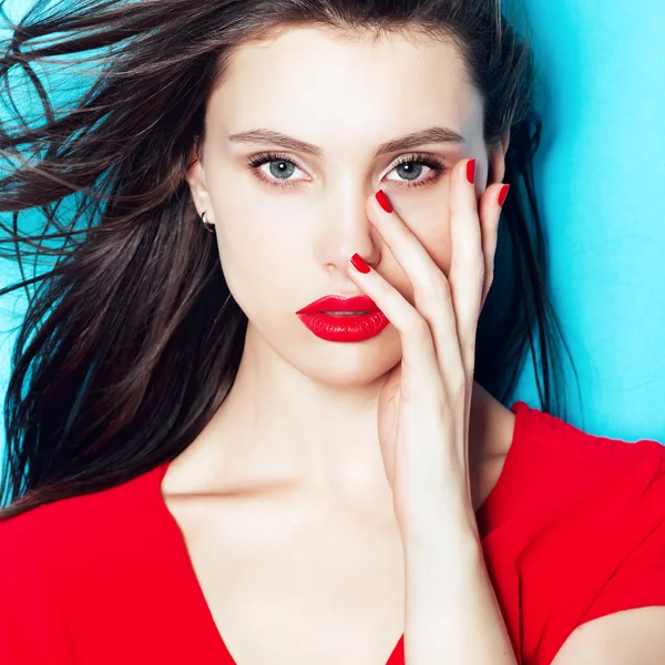
<instances>
[{"instance_id":1,"label":"woman's long dark brown hair blowing out to the left side of her face and behind","mask_svg":"<svg viewBox=\"0 0 665 665\"><path fill-rule=\"evenodd\" d=\"M0 131L0 213L11 213L2 256L14 257L23 277L0 295L29 295L4 403L0 518L175 458L225 399L247 318L196 214L187 155L205 135L206 99L234 49L296 25L347 34L416 28L454 40L483 95L485 143L511 132L512 187L475 380L507 403L530 351L541 408L560 415L556 336L567 346L546 291L533 184L542 125L534 62L500 0L39 0L0 49L10 112ZM68 61L75 80L95 75L57 112L59 91L49 96L43 68ZM30 113L16 98L21 81L41 104ZM39 233L19 225L30 208ZM27 277L29 256L53 265Z\"/></svg>"}]
</instances>

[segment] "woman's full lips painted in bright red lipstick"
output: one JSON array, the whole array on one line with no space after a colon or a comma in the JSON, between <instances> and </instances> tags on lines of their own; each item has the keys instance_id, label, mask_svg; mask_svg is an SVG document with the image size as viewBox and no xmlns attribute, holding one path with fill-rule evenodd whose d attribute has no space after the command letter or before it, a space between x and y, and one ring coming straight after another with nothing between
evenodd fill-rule
<instances>
[{"instance_id":1,"label":"woman's full lips painted in bright red lipstick","mask_svg":"<svg viewBox=\"0 0 665 665\"><path fill-rule=\"evenodd\" d=\"M311 332L327 341L370 339L390 323L368 296L324 296L296 315Z\"/></svg>"}]
</instances>

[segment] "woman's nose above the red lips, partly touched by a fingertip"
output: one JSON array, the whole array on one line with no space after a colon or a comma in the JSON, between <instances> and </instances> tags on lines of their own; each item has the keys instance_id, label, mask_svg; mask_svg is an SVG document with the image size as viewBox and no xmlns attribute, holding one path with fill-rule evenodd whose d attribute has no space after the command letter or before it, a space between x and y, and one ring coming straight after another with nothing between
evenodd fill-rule
<instances>
[{"instance_id":1,"label":"woman's nose above the red lips, partly touched by a fingertip","mask_svg":"<svg viewBox=\"0 0 665 665\"><path fill-rule=\"evenodd\" d=\"M369 192L327 201L324 222L316 239L316 254L329 272L346 274L354 254L376 267L381 257L381 237L367 216Z\"/></svg>"}]
</instances>

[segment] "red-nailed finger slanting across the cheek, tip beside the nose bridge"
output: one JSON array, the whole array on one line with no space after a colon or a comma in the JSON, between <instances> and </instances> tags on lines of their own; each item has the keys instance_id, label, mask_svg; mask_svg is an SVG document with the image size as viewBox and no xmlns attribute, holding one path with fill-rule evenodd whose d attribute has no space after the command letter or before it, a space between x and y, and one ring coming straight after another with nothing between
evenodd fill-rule
<instances>
[{"instance_id":1,"label":"red-nailed finger slanting across the cheek, tip beside the nose bridge","mask_svg":"<svg viewBox=\"0 0 665 665\"><path fill-rule=\"evenodd\" d=\"M430 328L438 369L450 395L464 375L448 279L387 198L382 192L369 197L369 218L413 287L416 309Z\"/></svg>"}]
</instances>

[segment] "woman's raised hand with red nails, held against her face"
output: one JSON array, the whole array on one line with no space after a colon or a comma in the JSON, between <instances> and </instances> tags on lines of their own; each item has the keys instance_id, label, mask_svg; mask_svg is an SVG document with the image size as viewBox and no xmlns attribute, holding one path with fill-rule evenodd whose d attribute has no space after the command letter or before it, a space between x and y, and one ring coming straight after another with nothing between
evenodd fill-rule
<instances>
[{"instance_id":1,"label":"woman's raised hand with red nails, held against her face","mask_svg":"<svg viewBox=\"0 0 665 665\"><path fill-rule=\"evenodd\" d=\"M474 162L467 158L450 175L448 278L396 212L386 212L376 196L368 200L369 219L409 278L415 307L376 270L348 268L401 337L401 361L379 395L378 433L402 531L451 515L451 508L461 509L462 519L473 515L468 437L475 334L492 285L499 197L507 190L493 184L478 204L469 164L473 180Z\"/></svg>"}]
</instances>

